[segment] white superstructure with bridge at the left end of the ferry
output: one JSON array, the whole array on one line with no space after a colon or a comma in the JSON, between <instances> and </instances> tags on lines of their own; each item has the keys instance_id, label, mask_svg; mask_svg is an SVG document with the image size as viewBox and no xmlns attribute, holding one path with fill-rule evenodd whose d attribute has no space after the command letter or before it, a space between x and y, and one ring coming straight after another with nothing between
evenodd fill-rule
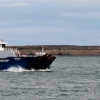
<instances>
[{"instance_id":1,"label":"white superstructure with bridge at the left end of the ferry","mask_svg":"<svg viewBox=\"0 0 100 100\"><path fill-rule=\"evenodd\" d=\"M17 49L6 48L6 42L0 40L0 58L17 57L20 55Z\"/></svg>"}]
</instances>

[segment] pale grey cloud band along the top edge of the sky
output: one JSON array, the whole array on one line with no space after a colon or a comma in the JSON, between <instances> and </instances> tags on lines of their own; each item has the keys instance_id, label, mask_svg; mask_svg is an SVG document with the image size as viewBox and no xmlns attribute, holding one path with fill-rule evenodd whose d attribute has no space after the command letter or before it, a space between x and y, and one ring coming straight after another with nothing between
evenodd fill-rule
<instances>
[{"instance_id":1,"label":"pale grey cloud band along the top edge of the sky","mask_svg":"<svg viewBox=\"0 0 100 100\"><path fill-rule=\"evenodd\" d=\"M52 4L52 5L67 5L67 6L100 6L100 0L9 0L10 3L24 2L35 4ZM2 0L0 3L7 4L8 0Z\"/></svg>"}]
</instances>

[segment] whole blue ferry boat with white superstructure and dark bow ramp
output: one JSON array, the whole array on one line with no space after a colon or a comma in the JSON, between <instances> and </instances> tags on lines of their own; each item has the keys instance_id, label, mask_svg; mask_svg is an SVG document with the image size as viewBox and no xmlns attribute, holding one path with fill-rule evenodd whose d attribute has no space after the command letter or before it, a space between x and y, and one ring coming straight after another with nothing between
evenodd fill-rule
<instances>
[{"instance_id":1,"label":"whole blue ferry boat with white superstructure and dark bow ramp","mask_svg":"<svg viewBox=\"0 0 100 100\"><path fill-rule=\"evenodd\" d=\"M41 52L36 52L34 55L20 55L17 49L7 48L7 43L0 40L0 70L7 70L14 67L21 67L27 70L42 70L50 69L51 63L56 56L48 55L44 52L42 47Z\"/></svg>"}]
</instances>

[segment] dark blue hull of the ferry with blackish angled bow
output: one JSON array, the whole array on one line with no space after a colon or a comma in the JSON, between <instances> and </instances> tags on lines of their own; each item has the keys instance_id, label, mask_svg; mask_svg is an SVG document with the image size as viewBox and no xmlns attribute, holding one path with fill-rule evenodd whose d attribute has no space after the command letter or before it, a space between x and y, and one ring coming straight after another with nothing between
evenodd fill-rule
<instances>
[{"instance_id":1,"label":"dark blue hull of the ferry with blackish angled bow","mask_svg":"<svg viewBox=\"0 0 100 100\"><path fill-rule=\"evenodd\" d=\"M56 57L44 55L39 57L8 57L0 58L0 70L6 70L10 67L22 67L24 69L50 69L51 63Z\"/></svg>"}]
</instances>

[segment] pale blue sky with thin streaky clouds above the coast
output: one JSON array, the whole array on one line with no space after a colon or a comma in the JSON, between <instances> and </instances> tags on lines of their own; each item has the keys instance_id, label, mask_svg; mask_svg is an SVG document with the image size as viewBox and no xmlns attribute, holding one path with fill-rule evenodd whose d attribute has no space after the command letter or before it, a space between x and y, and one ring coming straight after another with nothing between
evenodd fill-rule
<instances>
[{"instance_id":1,"label":"pale blue sky with thin streaky clouds above the coast","mask_svg":"<svg viewBox=\"0 0 100 100\"><path fill-rule=\"evenodd\" d=\"M0 0L8 45L100 46L100 0Z\"/></svg>"}]
</instances>

